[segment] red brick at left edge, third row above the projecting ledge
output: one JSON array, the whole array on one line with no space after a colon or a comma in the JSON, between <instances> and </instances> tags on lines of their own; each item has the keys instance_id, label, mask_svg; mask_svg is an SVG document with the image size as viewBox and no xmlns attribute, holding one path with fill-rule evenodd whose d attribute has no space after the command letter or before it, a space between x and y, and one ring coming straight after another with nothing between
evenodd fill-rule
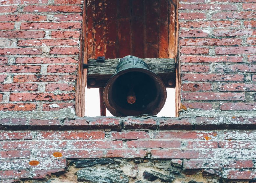
<instances>
[{"instance_id":1,"label":"red brick at left edge, third row above the projecting ledge","mask_svg":"<svg viewBox=\"0 0 256 183\"><path fill-rule=\"evenodd\" d=\"M0 91L37 91L38 85L35 83L5 83L0 84Z\"/></svg>"}]
</instances>

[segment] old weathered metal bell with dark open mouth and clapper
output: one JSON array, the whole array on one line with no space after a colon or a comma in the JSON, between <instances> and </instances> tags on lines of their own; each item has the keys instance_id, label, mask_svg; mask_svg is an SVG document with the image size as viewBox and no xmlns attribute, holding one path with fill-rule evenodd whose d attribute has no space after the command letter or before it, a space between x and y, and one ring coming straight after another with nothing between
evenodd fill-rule
<instances>
[{"instance_id":1,"label":"old weathered metal bell with dark open mouth and clapper","mask_svg":"<svg viewBox=\"0 0 256 183\"><path fill-rule=\"evenodd\" d=\"M167 96L162 79L138 57L128 55L119 62L103 91L106 108L122 117L159 113Z\"/></svg>"}]
</instances>

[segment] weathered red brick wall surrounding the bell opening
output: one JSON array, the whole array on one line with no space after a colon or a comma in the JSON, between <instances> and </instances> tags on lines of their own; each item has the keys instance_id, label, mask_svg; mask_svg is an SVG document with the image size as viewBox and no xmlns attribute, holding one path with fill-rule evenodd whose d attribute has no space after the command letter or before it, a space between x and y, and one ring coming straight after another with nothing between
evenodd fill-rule
<instances>
[{"instance_id":1,"label":"weathered red brick wall surrounding the bell opening","mask_svg":"<svg viewBox=\"0 0 256 183\"><path fill-rule=\"evenodd\" d=\"M179 118L76 117L81 1L0 3L0 183L77 182L84 158L137 183L255 181L255 0L179 2Z\"/></svg>"}]
</instances>

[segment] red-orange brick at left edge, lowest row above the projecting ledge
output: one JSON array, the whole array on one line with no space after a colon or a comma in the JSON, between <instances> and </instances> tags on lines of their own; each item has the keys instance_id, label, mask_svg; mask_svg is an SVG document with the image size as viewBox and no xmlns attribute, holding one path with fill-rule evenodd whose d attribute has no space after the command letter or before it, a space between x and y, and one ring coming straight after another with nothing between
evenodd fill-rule
<instances>
[{"instance_id":1,"label":"red-orange brick at left edge, lowest row above the projecting ledge","mask_svg":"<svg viewBox=\"0 0 256 183\"><path fill-rule=\"evenodd\" d=\"M8 103L0 104L0 110L3 111L32 111L36 110L36 104L32 103Z\"/></svg>"}]
</instances>

